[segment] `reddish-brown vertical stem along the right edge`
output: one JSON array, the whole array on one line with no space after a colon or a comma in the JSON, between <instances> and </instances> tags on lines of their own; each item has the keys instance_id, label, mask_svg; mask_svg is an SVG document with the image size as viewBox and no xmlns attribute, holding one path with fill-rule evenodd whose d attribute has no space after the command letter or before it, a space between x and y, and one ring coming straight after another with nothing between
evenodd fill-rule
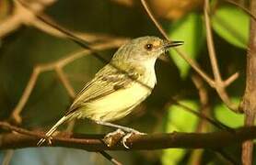
<instances>
[{"instance_id":1,"label":"reddish-brown vertical stem along the right edge","mask_svg":"<svg viewBox=\"0 0 256 165\"><path fill-rule=\"evenodd\" d=\"M250 12L256 14L256 1L250 1ZM256 21L250 19L250 45L247 55L246 89L241 102L241 109L245 113L245 126L253 126L256 115ZM252 164L253 142L243 143L242 163Z\"/></svg>"}]
</instances>

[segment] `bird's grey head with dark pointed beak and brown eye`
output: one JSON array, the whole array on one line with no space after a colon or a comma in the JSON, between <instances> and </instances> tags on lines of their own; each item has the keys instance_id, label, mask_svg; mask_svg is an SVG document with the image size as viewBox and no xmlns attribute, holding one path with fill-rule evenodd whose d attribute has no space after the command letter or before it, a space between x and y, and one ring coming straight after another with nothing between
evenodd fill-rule
<instances>
[{"instance_id":1,"label":"bird's grey head with dark pointed beak and brown eye","mask_svg":"<svg viewBox=\"0 0 256 165\"><path fill-rule=\"evenodd\" d=\"M181 41L170 42L169 40L153 36L134 38L117 50L112 58L112 62L116 64L121 62L143 64L149 60L156 61L170 47L179 46L182 43Z\"/></svg>"}]
</instances>

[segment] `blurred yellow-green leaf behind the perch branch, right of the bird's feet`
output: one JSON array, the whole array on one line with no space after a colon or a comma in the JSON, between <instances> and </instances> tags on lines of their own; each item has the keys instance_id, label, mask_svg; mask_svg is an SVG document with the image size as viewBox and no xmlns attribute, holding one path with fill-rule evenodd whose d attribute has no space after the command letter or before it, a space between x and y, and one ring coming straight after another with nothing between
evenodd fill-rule
<instances>
[{"instance_id":1,"label":"blurred yellow-green leaf behind the perch branch, right of the bird's feet","mask_svg":"<svg viewBox=\"0 0 256 165\"><path fill-rule=\"evenodd\" d=\"M180 102L188 107L197 110L198 104L192 100L184 100ZM165 118L165 132L182 131L193 132L196 128L198 117L187 112L179 105L171 105L168 115ZM186 153L186 149L171 148L163 150L161 161L162 164L176 165Z\"/></svg>"}]
</instances>

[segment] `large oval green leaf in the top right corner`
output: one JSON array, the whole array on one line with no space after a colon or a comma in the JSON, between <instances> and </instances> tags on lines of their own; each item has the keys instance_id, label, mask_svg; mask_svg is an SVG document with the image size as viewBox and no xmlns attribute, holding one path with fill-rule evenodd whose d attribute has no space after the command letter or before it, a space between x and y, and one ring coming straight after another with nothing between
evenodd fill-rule
<instances>
[{"instance_id":1,"label":"large oval green leaf in the top right corner","mask_svg":"<svg viewBox=\"0 0 256 165\"><path fill-rule=\"evenodd\" d=\"M249 40L250 17L237 6L222 6L212 17L215 32L230 44L246 49Z\"/></svg>"}]
</instances>

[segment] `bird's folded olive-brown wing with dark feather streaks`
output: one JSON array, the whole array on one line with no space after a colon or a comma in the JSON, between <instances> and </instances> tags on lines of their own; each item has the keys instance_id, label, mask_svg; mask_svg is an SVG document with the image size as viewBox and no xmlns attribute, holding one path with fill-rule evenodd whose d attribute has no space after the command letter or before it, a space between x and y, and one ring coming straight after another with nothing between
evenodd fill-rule
<instances>
[{"instance_id":1,"label":"bird's folded olive-brown wing with dark feather streaks","mask_svg":"<svg viewBox=\"0 0 256 165\"><path fill-rule=\"evenodd\" d=\"M105 66L95 75L95 78L87 82L82 91L77 94L74 103L71 105L66 115L76 111L77 108L85 103L129 87L138 76L134 71L128 74L129 76L133 76L133 79L129 78L127 73L118 71L110 65Z\"/></svg>"}]
</instances>

